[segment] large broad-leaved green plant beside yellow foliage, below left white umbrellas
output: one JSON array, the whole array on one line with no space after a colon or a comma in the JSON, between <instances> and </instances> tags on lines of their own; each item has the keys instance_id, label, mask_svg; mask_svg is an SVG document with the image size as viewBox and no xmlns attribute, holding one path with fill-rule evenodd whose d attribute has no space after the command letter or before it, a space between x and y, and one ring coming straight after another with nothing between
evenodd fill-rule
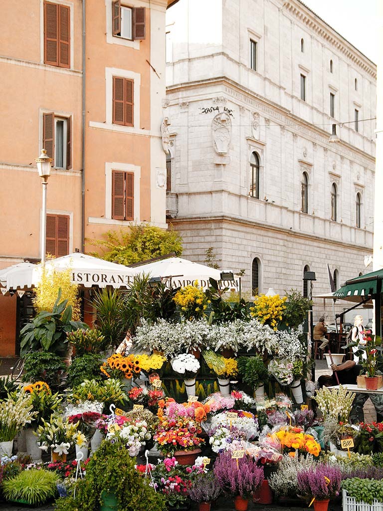
<instances>
[{"instance_id":1,"label":"large broad-leaved green plant beside yellow foliage, below left white umbrellas","mask_svg":"<svg viewBox=\"0 0 383 511\"><path fill-rule=\"evenodd\" d=\"M68 300L60 301L59 289L52 312L39 312L31 323L20 331L20 353L24 356L29 351L44 351L64 355L67 349L66 334L79 328L87 329L82 321L72 321L72 307Z\"/></svg>"}]
</instances>

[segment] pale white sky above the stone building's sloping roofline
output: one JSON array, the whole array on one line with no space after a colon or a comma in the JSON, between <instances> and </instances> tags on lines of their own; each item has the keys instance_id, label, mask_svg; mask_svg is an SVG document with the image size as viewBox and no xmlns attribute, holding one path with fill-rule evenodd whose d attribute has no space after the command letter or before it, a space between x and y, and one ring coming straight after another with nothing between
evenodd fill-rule
<instances>
[{"instance_id":1,"label":"pale white sky above the stone building's sloping roofline","mask_svg":"<svg viewBox=\"0 0 383 511\"><path fill-rule=\"evenodd\" d=\"M373 62L377 62L377 3L383 0L301 0Z\"/></svg>"}]
</instances>

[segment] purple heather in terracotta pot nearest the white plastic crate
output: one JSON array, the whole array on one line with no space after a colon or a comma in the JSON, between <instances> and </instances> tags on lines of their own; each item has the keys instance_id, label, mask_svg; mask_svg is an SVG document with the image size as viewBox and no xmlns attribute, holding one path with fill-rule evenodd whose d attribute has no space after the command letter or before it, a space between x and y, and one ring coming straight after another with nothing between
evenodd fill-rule
<instances>
[{"instance_id":1,"label":"purple heather in terracotta pot nearest the white plastic crate","mask_svg":"<svg viewBox=\"0 0 383 511\"><path fill-rule=\"evenodd\" d=\"M325 478L330 480L326 482ZM333 499L339 495L342 473L339 467L318 463L298 472L298 493L317 500Z\"/></svg>"}]
</instances>

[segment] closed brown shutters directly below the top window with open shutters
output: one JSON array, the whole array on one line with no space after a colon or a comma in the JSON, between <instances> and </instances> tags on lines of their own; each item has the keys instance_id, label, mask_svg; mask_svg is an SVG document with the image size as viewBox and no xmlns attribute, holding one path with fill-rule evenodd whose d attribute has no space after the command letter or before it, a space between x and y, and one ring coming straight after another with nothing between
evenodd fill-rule
<instances>
[{"instance_id":1,"label":"closed brown shutters directly below the top window with open shutters","mask_svg":"<svg viewBox=\"0 0 383 511\"><path fill-rule=\"evenodd\" d=\"M113 76L113 124L133 126L134 81Z\"/></svg>"}]
</instances>

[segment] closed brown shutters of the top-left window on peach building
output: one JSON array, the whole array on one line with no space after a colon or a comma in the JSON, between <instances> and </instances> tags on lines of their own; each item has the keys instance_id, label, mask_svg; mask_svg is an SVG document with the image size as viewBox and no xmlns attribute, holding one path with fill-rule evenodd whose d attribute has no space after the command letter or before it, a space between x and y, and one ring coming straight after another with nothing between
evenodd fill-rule
<instances>
[{"instance_id":1,"label":"closed brown shutters of the top-left window on peach building","mask_svg":"<svg viewBox=\"0 0 383 511\"><path fill-rule=\"evenodd\" d=\"M70 7L44 2L44 64L70 67Z\"/></svg>"}]
</instances>

